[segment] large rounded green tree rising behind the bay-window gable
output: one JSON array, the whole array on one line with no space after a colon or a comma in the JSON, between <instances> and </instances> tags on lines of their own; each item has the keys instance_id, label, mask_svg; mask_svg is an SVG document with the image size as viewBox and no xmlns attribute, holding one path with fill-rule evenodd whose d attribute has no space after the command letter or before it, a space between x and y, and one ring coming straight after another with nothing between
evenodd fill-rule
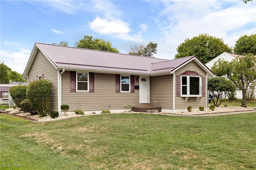
<instances>
[{"instance_id":1,"label":"large rounded green tree rising behind the bay-window gable","mask_svg":"<svg viewBox=\"0 0 256 170\"><path fill-rule=\"evenodd\" d=\"M208 63L223 52L232 53L228 45L224 44L222 39L200 34L192 39L185 39L177 48L175 58L196 55L203 63Z\"/></svg>"}]
</instances>

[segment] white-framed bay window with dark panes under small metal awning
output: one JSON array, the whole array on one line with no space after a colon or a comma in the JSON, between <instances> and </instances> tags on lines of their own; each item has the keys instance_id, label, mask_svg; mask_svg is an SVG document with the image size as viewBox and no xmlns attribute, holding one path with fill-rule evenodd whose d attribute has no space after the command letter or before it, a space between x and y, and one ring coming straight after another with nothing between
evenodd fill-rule
<instances>
[{"instance_id":1,"label":"white-framed bay window with dark panes under small metal awning","mask_svg":"<svg viewBox=\"0 0 256 170\"><path fill-rule=\"evenodd\" d=\"M181 94L188 97L201 96L202 81L199 76L181 76Z\"/></svg>"}]
</instances>

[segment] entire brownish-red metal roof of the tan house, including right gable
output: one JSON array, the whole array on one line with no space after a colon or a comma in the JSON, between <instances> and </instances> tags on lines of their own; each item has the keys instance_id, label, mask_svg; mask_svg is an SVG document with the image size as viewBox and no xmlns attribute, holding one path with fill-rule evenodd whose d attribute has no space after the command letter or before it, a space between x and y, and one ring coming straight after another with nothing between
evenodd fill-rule
<instances>
[{"instance_id":1,"label":"entire brownish-red metal roof of the tan house, including right gable","mask_svg":"<svg viewBox=\"0 0 256 170\"><path fill-rule=\"evenodd\" d=\"M137 74L163 74L173 72L183 64L195 60L206 72L214 75L196 56L166 60L136 55L112 53L92 49L82 49L61 45L35 43L32 54L23 74L26 78L38 49L47 57L55 68L69 70L93 70L126 72Z\"/></svg>"}]
</instances>

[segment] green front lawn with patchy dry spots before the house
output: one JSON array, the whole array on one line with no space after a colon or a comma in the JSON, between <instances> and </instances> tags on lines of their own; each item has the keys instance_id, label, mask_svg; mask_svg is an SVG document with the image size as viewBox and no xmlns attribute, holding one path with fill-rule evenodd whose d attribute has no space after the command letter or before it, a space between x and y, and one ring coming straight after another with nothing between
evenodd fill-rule
<instances>
[{"instance_id":1,"label":"green front lawn with patchy dry spots before the house","mask_svg":"<svg viewBox=\"0 0 256 170\"><path fill-rule=\"evenodd\" d=\"M26 170L256 169L256 112L109 114L48 123L1 114L0 122L0 169L9 169L4 163Z\"/></svg>"}]
</instances>

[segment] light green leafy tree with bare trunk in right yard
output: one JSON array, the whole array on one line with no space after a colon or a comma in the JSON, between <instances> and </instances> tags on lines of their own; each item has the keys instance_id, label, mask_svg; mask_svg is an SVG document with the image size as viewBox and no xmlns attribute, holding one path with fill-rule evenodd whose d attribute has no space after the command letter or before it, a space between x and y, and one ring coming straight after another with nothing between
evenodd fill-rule
<instances>
[{"instance_id":1,"label":"light green leafy tree with bare trunk in right yard","mask_svg":"<svg viewBox=\"0 0 256 170\"><path fill-rule=\"evenodd\" d=\"M216 76L226 75L236 87L242 90L242 107L246 107L246 91L250 83L256 82L256 57L253 54L245 57L236 57L230 63L218 60L214 63L212 71Z\"/></svg>"}]
</instances>

